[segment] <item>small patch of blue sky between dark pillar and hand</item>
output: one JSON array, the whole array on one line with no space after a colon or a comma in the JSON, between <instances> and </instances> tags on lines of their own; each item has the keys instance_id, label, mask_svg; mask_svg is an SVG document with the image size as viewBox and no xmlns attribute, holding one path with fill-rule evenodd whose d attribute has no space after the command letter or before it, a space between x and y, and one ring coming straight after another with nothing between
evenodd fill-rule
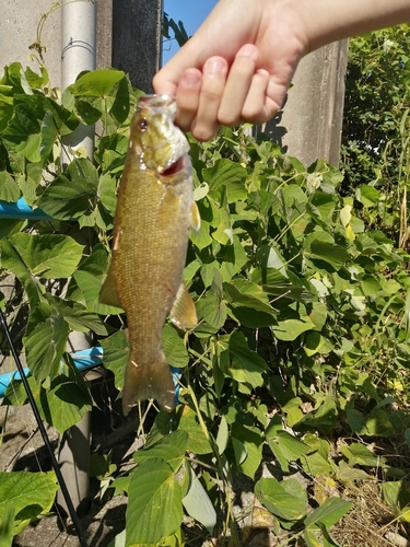
<instances>
[{"instance_id":1,"label":"small patch of blue sky between dark pillar and hand","mask_svg":"<svg viewBox=\"0 0 410 547\"><path fill-rule=\"evenodd\" d=\"M169 19L181 21L188 36L191 36L218 0L164 0L164 11ZM165 63L178 50L175 40L166 42L163 49L163 63Z\"/></svg>"}]
</instances>

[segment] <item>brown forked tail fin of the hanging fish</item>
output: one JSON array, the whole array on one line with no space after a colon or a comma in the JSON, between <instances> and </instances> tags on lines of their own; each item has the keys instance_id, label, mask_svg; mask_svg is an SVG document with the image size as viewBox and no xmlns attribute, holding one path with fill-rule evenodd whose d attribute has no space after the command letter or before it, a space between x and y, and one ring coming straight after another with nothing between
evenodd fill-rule
<instances>
[{"instance_id":1,"label":"brown forked tail fin of the hanging fish","mask_svg":"<svg viewBox=\"0 0 410 547\"><path fill-rule=\"evenodd\" d=\"M156 362L139 366L132 353L127 363L122 393L122 414L127 416L130 407L139 400L154 398L171 412L175 406L175 385L169 365L163 352Z\"/></svg>"}]
</instances>

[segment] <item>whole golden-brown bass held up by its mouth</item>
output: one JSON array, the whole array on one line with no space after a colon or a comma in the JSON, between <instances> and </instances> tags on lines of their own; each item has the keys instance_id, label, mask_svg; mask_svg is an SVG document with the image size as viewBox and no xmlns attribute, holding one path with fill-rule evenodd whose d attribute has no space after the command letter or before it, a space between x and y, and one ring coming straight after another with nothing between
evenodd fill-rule
<instances>
[{"instance_id":1,"label":"whole golden-brown bass held up by its mouth","mask_svg":"<svg viewBox=\"0 0 410 547\"><path fill-rule=\"evenodd\" d=\"M183 282L189 230L200 229L194 200L189 143L174 125L171 95L143 95L131 119L118 186L112 259L99 292L104 304L126 312L129 359L122 412L154 398L167 411L175 385L162 348L166 317L181 329L197 325Z\"/></svg>"}]
</instances>

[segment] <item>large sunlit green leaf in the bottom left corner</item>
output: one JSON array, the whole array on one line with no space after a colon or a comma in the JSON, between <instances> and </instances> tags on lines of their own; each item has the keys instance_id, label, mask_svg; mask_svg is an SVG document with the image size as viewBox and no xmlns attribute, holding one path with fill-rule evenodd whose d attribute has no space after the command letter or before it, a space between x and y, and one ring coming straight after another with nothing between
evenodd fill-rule
<instances>
[{"instance_id":1,"label":"large sunlit green leaf in the bottom left corner","mask_svg":"<svg viewBox=\"0 0 410 547\"><path fill-rule=\"evenodd\" d=\"M0 520L14 505L14 522L32 521L47 513L54 503L58 485L54 472L0 472Z\"/></svg>"}]
</instances>

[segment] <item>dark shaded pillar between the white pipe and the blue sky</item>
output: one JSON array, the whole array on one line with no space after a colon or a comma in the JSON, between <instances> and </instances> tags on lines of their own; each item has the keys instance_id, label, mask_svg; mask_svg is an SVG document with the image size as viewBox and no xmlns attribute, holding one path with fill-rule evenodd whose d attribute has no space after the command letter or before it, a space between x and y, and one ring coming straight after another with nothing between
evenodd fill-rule
<instances>
[{"instance_id":1,"label":"dark shaded pillar between the white pipe and the blue sky","mask_svg":"<svg viewBox=\"0 0 410 547\"><path fill-rule=\"evenodd\" d=\"M161 0L113 0L113 67L152 93L161 59Z\"/></svg>"}]
</instances>

